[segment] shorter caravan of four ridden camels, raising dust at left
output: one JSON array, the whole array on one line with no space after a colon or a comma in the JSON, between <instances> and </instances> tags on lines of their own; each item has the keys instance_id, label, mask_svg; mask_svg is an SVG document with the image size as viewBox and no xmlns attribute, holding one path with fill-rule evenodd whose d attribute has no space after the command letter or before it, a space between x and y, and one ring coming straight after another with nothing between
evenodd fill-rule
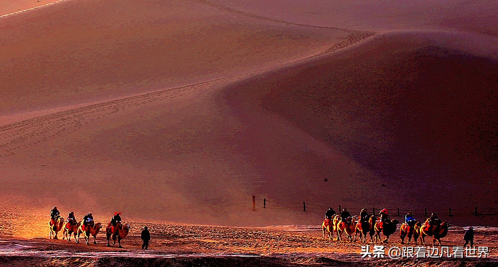
<instances>
[{"instance_id":1,"label":"shorter caravan of four ridden camels, raising dust at left","mask_svg":"<svg viewBox=\"0 0 498 267\"><path fill-rule=\"evenodd\" d=\"M114 213L113 218L106 227L108 247L111 247L110 239L112 238L113 246L116 244L116 241L118 241L119 248L123 248L121 246L121 240L124 239L131 230L129 224L122 223L120 215L121 212ZM77 221L74 212L70 212L67 221L65 221L64 217L60 216L57 207L54 207L50 211L50 216L51 219L48 222L50 235L48 239L58 239L57 234L62 230L62 240L67 238L68 241L71 241L71 235L73 235L74 242L80 243L80 236L83 236L85 238L85 244L90 245L90 237L93 236L93 243L97 244L97 234L99 234L102 229L102 223L96 223L91 212L86 214L82 221Z\"/></svg>"}]
</instances>

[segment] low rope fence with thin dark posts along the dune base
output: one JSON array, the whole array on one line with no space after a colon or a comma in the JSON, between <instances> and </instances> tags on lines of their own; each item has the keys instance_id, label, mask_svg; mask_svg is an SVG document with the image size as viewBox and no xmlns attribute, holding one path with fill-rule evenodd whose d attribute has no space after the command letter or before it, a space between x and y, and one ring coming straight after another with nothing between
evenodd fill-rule
<instances>
[{"instance_id":1,"label":"low rope fence with thin dark posts along the dune base","mask_svg":"<svg viewBox=\"0 0 498 267\"><path fill-rule=\"evenodd\" d=\"M256 203L255 203L255 196L252 196L252 207L253 210L256 211ZM263 198L263 205L262 208L264 209L277 209L277 210L288 210L288 209L300 209L304 212L306 211L316 211L320 210L325 212L330 206L326 205L320 205L320 204L313 204L313 203L306 203L305 201L303 202L284 202L284 201L275 201L272 199L266 199ZM341 213L343 208L347 208L348 211L352 213L360 213L360 211L363 208L357 208L357 207L346 207L346 206L341 206L338 205L338 214ZM425 215L428 217L431 213L436 212L438 214L444 214L449 217L454 217L454 216L463 216L463 215L474 215L474 216L494 216L498 215L498 207L493 207L493 208L483 208L483 207L474 207L474 208L452 208L448 207L447 209L428 209L428 208L414 208L414 209L404 209L404 208L399 208L399 207L381 207L381 208L376 208L376 207L364 207L367 209L367 211L373 212L373 214L377 214L380 212L382 208L387 208L390 214L395 214L398 217L404 216L408 211L413 212L414 214L418 215Z\"/></svg>"}]
</instances>

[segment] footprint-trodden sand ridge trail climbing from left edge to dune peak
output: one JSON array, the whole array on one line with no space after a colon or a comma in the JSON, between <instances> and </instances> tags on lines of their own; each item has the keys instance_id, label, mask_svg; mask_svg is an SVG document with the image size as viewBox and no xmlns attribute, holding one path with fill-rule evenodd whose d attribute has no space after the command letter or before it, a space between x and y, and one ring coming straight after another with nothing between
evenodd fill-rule
<instances>
[{"instance_id":1,"label":"footprint-trodden sand ridge trail climbing from left edge to dune peak","mask_svg":"<svg viewBox=\"0 0 498 267\"><path fill-rule=\"evenodd\" d=\"M15 155L15 150L27 148L31 145L36 145L60 134L76 132L85 124L103 118L107 115L119 112L120 110L124 110L126 107L138 106L157 100L164 100L166 98L185 96L200 89L209 89L220 83L246 79L251 76L280 69L306 60L314 59L364 41L368 38L373 37L374 34L375 33L373 32L353 31L348 36L344 37L342 41L334 44L329 49L299 60L282 63L267 68L257 69L250 72L234 74L232 76L224 78L199 82L192 85L162 89L153 92L118 98L111 101L91 104L74 109L63 110L2 125L0 126L0 132L2 133L0 137L0 148L2 149L2 152L0 152L0 157Z\"/></svg>"}]
</instances>

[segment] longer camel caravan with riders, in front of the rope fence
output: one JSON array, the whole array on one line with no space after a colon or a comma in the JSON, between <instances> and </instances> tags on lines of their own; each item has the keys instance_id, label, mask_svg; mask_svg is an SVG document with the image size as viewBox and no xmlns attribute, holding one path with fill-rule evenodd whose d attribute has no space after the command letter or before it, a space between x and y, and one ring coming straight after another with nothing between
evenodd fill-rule
<instances>
[{"instance_id":1,"label":"longer camel caravan with riders, in front of the rope fence","mask_svg":"<svg viewBox=\"0 0 498 267\"><path fill-rule=\"evenodd\" d=\"M372 243L382 242L387 244L389 236L393 235L397 230L399 221L396 219L389 219L387 216L387 209L382 209L379 212L378 219L375 215L369 216L366 209L362 209L360 216L351 216L346 208L343 209L340 215L329 208L325 212L325 218L322 221L322 238L327 236L328 239L333 240L334 233L337 236L337 241L343 240L343 233L350 242L356 242L358 235L360 241L367 242L367 236L370 237ZM408 212L405 216L405 222L401 224L399 237L401 244L405 244L405 238L408 238L406 244L409 244L411 239L417 245L417 239L420 237L420 242L425 246L425 237L432 237L432 245L435 246L436 241L441 246L441 238L448 234L449 223L441 221L435 213L431 214L424 223L417 221L413 218L412 212ZM384 236L381 240L380 234ZM354 239L353 239L354 236Z\"/></svg>"}]
</instances>

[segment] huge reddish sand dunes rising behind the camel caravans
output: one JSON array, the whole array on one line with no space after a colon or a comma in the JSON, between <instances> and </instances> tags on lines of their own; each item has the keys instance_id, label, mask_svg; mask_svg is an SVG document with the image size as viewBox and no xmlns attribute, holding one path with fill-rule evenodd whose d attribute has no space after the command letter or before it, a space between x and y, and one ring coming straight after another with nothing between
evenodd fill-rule
<instances>
[{"instance_id":1,"label":"huge reddish sand dunes rising behind the camel caravans","mask_svg":"<svg viewBox=\"0 0 498 267\"><path fill-rule=\"evenodd\" d=\"M341 205L497 226L494 1L51 2L0 7L0 210L32 218L0 237L44 235L53 206L137 224L319 225Z\"/></svg>"}]
</instances>

